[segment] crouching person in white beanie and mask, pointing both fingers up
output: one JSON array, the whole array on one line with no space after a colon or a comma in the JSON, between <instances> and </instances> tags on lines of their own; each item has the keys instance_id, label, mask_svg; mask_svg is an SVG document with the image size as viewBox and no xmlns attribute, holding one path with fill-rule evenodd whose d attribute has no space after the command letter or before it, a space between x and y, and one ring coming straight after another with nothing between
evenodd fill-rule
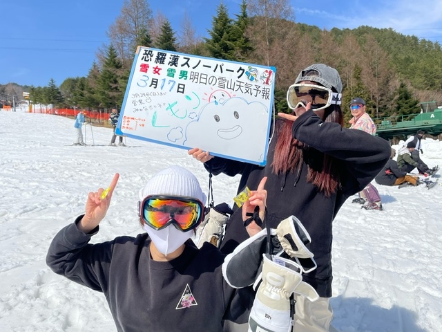
<instances>
[{"instance_id":1,"label":"crouching person in white beanie and mask, pointing both fingers up","mask_svg":"<svg viewBox=\"0 0 442 332\"><path fill-rule=\"evenodd\" d=\"M224 255L211 243L197 248L191 240L204 218L206 195L182 167L164 169L140 190L146 232L88 243L106 216L118 178L115 174L108 190L89 193L85 214L52 240L48 266L104 293L117 331L223 331L224 320L247 322L253 299L244 301L224 281ZM264 183L244 203L248 212L258 206L261 219ZM248 229L259 230L254 221Z\"/></svg>"}]
</instances>

